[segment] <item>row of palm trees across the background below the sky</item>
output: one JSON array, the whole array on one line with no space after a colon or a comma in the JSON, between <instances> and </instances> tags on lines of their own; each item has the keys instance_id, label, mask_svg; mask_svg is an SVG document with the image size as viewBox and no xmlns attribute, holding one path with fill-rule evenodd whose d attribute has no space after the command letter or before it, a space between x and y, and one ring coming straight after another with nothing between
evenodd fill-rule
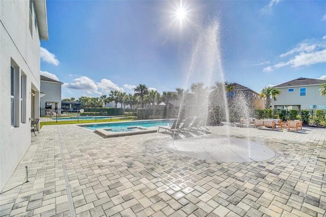
<instances>
[{"instance_id":1,"label":"row of palm trees across the background below the sky","mask_svg":"<svg viewBox=\"0 0 326 217\"><path fill-rule=\"evenodd\" d=\"M164 102L167 107L171 101L179 100L180 104L199 104L203 102L208 97L208 101L217 100L216 96L221 96L221 93L226 93L226 98L231 98L231 92L234 86L229 82L216 82L212 87L204 87L204 83L194 83L191 85L190 90L183 88L176 88L175 92L163 91L162 94L156 90L148 90L148 87L144 84L134 88L134 94L127 94L120 91L111 91L109 95L101 95L100 97L79 97L77 100L75 98L66 98L63 101L79 101L81 106L84 108L89 107L105 107L106 103L115 103L117 107L120 103L121 108L129 105L130 108L140 105L142 108L144 105L155 106L161 102ZM260 93L260 97L265 99L265 108L269 108L271 104L271 99L277 99L277 95L281 92L273 87L264 87ZM326 96L326 83L321 85L320 94ZM215 99L213 99L215 97Z\"/></svg>"}]
</instances>

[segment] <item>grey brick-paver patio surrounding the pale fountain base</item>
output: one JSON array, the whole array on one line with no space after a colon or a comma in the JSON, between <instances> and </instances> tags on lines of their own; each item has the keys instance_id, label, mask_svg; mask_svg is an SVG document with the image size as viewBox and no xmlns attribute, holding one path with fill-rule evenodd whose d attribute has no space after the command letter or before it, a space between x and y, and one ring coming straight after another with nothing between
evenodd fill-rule
<instances>
[{"instance_id":1,"label":"grey brick-paver patio surrounding the pale fountain base","mask_svg":"<svg viewBox=\"0 0 326 217\"><path fill-rule=\"evenodd\" d=\"M166 150L170 134L104 139L75 125L47 125L32 134L3 189L0 215L326 215L325 128L209 129L249 137L276 156L244 163L200 160ZM25 166L29 182L23 183Z\"/></svg>"}]
</instances>

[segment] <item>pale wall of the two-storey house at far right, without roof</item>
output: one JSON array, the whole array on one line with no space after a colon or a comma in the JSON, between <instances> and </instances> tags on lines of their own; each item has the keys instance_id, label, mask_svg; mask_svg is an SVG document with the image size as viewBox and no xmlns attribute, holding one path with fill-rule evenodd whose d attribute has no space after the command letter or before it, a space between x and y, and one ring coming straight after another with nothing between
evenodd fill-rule
<instances>
[{"instance_id":1,"label":"pale wall of the two-storey house at far right, without roof","mask_svg":"<svg viewBox=\"0 0 326 217\"><path fill-rule=\"evenodd\" d=\"M306 88L306 96L300 96L300 88ZM288 92L288 89L294 89L293 92ZM277 88L281 94L277 96L277 100L271 100L272 108L277 109L277 106L292 106L299 105L299 109L310 109L311 105L326 105L326 97L320 96L320 85L313 86L298 86Z\"/></svg>"}]
</instances>

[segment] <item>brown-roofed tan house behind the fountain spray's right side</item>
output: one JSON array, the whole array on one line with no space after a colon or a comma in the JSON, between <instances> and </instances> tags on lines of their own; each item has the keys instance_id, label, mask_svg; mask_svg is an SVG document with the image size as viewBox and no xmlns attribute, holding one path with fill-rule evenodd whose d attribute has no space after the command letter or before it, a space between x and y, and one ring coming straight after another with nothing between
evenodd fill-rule
<instances>
[{"instance_id":1,"label":"brown-roofed tan house behind the fountain spray's right side","mask_svg":"<svg viewBox=\"0 0 326 217\"><path fill-rule=\"evenodd\" d=\"M232 86L233 90L227 93L228 99L237 99L237 97L242 96L252 108L265 108L265 99L261 98L259 93L237 83L232 83Z\"/></svg>"}]
</instances>

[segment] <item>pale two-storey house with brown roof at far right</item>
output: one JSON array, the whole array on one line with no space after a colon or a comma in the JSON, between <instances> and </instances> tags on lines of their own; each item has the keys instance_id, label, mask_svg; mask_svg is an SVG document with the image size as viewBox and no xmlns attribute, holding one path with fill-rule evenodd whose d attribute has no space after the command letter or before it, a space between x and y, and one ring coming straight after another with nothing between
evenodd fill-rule
<instances>
[{"instance_id":1,"label":"pale two-storey house with brown roof at far right","mask_svg":"<svg viewBox=\"0 0 326 217\"><path fill-rule=\"evenodd\" d=\"M281 91L271 107L277 110L326 109L326 97L320 95L320 85L326 80L299 77L274 86Z\"/></svg>"}]
</instances>

